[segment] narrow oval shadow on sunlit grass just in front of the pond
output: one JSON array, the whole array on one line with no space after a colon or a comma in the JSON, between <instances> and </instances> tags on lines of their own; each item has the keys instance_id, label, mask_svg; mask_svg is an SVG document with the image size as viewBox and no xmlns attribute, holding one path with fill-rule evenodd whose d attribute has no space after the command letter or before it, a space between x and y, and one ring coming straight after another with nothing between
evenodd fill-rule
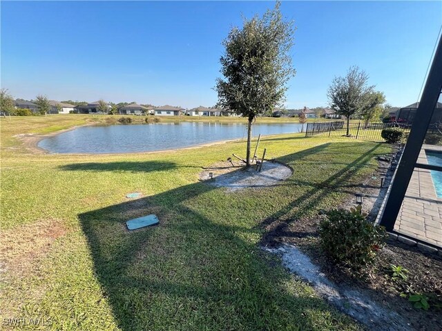
<instances>
[{"instance_id":1,"label":"narrow oval shadow on sunlit grass just in front of the pond","mask_svg":"<svg viewBox=\"0 0 442 331\"><path fill-rule=\"evenodd\" d=\"M169 161L119 161L119 162L86 162L61 165L67 171L127 171L154 172L177 168L176 163Z\"/></svg>"}]
</instances>

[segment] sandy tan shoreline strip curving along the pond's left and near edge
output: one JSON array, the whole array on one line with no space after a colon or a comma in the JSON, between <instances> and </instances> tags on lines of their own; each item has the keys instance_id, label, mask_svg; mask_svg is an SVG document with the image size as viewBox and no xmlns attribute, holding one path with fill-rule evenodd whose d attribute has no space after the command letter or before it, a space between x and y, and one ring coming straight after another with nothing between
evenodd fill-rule
<instances>
[{"instance_id":1,"label":"sandy tan shoreline strip curving along the pond's left and near edge","mask_svg":"<svg viewBox=\"0 0 442 331\"><path fill-rule=\"evenodd\" d=\"M165 149L165 150L151 150L151 151L144 151L144 152L119 152L119 153L51 153L48 150L45 150L44 148L41 148L38 146L38 143L43 140L46 139L48 137L53 137L56 136L57 134L61 134L64 132L68 132L71 130L75 130L77 128L83 128L85 126L97 126L97 123L86 123L84 126L73 126L72 128L68 128L68 129L64 129L64 130L60 130L57 132L51 132L48 134L32 134L32 133L25 133L25 134L16 134L15 137L16 139L18 139L19 141L21 141L21 143L23 143L23 147L30 150L31 152L35 153L35 154L47 154L47 155L127 155L127 154L155 154L155 153L162 153L162 152L177 152L180 150L191 150L194 148L202 148L202 147L209 147L209 146L214 146L214 145L220 145L222 143L231 143L234 141L241 141L241 138L238 139L229 139L229 140L218 140L218 141L211 141L209 143L198 143L196 145L191 145L191 146L187 146L187 147L183 147L183 148L171 148L171 149ZM265 134L262 135L261 138L266 138L266 137L272 137L272 136L280 136L282 134L298 134L301 132L292 132L292 133L278 133L278 134ZM255 137L256 139L257 137ZM244 140L244 142L247 140ZM253 141L253 138L252 138Z\"/></svg>"}]
</instances>

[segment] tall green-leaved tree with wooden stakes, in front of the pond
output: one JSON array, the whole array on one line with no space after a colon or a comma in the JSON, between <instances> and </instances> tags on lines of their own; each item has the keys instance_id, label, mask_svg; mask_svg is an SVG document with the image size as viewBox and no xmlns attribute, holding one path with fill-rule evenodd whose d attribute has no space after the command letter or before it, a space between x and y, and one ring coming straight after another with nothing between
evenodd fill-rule
<instances>
[{"instance_id":1,"label":"tall green-leaved tree with wooden stakes, in front of the pond","mask_svg":"<svg viewBox=\"0 0 442 331\"><path fill-rule=\"evenodd\" d=\"M282 103L287 81L295 74L289 54L294 30L294 23L283 19L278 2L262 17L244 19L242 28L233 28L222 43L224 79L217 79L215 86L218 105L248 119L247 166L253 121Z\"/></svg>"}]
</instances>

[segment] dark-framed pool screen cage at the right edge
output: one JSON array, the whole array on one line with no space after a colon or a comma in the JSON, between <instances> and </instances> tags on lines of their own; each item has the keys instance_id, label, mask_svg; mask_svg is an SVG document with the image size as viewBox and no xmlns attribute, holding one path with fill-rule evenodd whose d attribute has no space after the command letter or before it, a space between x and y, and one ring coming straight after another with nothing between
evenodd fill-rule
<instances>
[{"instance_id":1,"label":"dark-framed pool screen cage at the right edge","mask_svg":"<svg viewBox=\"0 0 442 331\"><path fill-rule=\"evenodd\" d=\"M410 135L380 224L389 232L442 247L442 38L436 46ZM434 111L436 109L436 111Z\"/></svg>"}]
</instances>

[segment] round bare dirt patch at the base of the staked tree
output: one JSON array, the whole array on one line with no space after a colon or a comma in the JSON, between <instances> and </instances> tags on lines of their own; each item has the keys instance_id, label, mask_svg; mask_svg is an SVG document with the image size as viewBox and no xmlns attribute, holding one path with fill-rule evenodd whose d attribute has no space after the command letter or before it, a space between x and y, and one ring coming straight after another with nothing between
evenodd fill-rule
<instances>
[{"instance_id":1,"label":"round bare dirt patch at the base of the staked tree","mask_svg":"<svg viewBox=\"0 0 442 331\"><path fill-rule=\"evenodd\" d=\"M205 168L200 173L200 180L228 190L241 190L278 185L293 174L289 166L278 161L264 161L261 171L256 168L256 164L246 168L241 161L221 161Z\"/></svg>"}]
</instances>

